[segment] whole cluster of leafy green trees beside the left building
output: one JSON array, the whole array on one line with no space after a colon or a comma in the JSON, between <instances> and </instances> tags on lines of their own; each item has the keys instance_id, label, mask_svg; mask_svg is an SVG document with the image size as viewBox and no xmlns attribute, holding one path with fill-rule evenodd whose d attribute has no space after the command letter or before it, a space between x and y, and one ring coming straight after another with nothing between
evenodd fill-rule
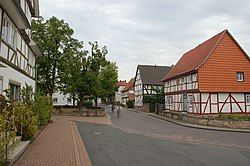
<instances>
[{"instance_id":1,"label":"whole cluster of leafy green trees beside the left building","mask_svg":"<svg viewBox=\"0 0 250 166\"><path fill-rule=\"evenodd\" d=\"M83 42L72 37L74 31L56 17L32 24L32 37L44 56L37 59L38 87L52 96L56 87L64 94L71 94L73 103L84 100L108 98L115 93L117 67L107 60L107 47L89 42L90 50Z\"/></svg>"}]
</instances>

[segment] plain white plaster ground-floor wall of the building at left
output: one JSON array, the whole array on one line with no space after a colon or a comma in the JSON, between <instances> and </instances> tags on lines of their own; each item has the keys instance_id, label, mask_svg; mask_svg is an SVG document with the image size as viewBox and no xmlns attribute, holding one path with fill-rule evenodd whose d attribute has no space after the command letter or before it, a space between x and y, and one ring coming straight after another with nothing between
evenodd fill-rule
<instances>
[{"instance_id":1,"label":"plain white plaster ground-floor wall of the building at left","mask_svg":"<svg viewBox=\"0 0 250 166\"><path fill-rule=\"evenodd\" d=\"M5 67L0 68L0 76L3 77L3 90L9 88L9 81L15 81L21 84L21 88L25 86L25 83L33 87L35 92L35 80L27 77L26 75L20 73L19 71L13 69L12 67L6 65L5 63L0 62Z\"/></svg>"}]
</instances>

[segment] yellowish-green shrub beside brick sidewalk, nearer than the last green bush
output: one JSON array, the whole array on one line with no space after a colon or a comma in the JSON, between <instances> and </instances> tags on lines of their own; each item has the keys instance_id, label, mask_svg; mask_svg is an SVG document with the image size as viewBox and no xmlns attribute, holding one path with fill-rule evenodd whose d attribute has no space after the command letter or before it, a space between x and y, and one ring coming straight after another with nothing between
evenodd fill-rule
<instances>
[{"instance_id":1,"label":"yellowish-green shrub beside brick sidewalk, nearer than the last green bush","mask_svg":"<svg viewBox=\"0 0 250 166\"><path fill-rule=\"evenodd\" d=\"M36 133L37 117L26 103L15 103L13 107L15 115L15 126L17 135L22 136L22 140L30 140Z\"/></svg>"}]
</instances>

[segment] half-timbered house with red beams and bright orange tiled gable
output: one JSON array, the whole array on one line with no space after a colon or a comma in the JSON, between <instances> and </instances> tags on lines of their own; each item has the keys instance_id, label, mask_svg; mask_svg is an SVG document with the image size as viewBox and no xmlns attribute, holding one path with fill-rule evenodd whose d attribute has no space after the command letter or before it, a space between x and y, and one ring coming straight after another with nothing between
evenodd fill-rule
<instances>
[{"instance_id":1,"label":"half-timbered house with red beams and bright orange tiled gable","mask_svg":"<svg viewBox=\"0 0 250 166\"><path fill-rule=\"evenodd\" d=\"M250 59L228 30L185 53L163 81L166 110L250 113Z\"/></svg>"}]
</instances>

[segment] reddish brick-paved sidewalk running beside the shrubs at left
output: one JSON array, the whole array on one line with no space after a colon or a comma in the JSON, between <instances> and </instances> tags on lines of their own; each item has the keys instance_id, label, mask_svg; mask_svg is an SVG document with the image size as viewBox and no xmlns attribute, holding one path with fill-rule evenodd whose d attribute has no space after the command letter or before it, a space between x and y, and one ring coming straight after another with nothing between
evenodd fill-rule
<instances>
[{"instance_id":1,"label":"reddish brick-paved sidewalk running beside the shrubs at left","mask_svg":"<svg viewBox=\"0 0 250 166\"><path fill-rule=\"evenodd\" d=\"M91 165L85 146L72 120L74 117L53 117L53 123L15 162L15 166L82 166Z\"/></svg>"}]
</instances>

